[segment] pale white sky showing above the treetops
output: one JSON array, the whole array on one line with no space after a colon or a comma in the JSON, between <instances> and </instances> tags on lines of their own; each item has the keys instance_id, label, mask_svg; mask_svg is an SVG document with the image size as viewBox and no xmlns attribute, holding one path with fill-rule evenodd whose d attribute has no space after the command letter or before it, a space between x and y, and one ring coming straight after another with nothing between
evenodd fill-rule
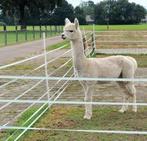
<instances>
[{"instance_id":1,"label":"pale white sky showing above the treetops","mask_svg":"<svg viewBox=\"0 0 147 141\"><path fill-rule=\"evenodd\" d=\"M74 7L76 7L77 5L79 5L81 3L81 1L88 1L88 0L67 0L70 4L72 4ZM98 3L102 0L92 0L94 3ZM129 0L129 2L135 2L137 4L140 4L142 6L144 6L145 8L147 8L147 0Z\"/></svg>"}]
</instances>

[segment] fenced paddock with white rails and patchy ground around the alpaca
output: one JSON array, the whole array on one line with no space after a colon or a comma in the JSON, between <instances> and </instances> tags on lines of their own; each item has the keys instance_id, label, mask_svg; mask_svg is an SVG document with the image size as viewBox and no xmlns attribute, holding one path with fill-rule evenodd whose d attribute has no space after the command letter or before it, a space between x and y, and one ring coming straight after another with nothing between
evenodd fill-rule
<instances>
[{"instance_id":1,"label":"fenced paddock with white rails and patchy ground around the alpaca","mask_svg":"<svg viewBox=\"0 0 147 141\"><path fill-rule=\"evenodd\" d=\"M50 49L43 40L42 54L0 66L1 140L147 140L147 31L94 29L83 32L87 57L133 56L135 79L74 77L69 42ZM95 86L91 120L83 119L82 80L111 81ZM137 113L118 112L123 92L114 81L135 81Z\"/></svg>"}]
</instances>

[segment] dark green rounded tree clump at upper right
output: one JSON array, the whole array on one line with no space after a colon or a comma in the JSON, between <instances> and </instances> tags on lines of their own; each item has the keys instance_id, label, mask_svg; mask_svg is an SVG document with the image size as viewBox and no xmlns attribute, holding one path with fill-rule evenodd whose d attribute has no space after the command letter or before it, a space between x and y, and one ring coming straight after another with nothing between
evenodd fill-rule
<instances>
[{"instance_id":1,"label":"dark green rounded tree clump at upper right","mask_svg":"<svg viewBox=\"0 0 147 141\"><path fill-rule=\"evenodd\" d=\"M97 24L137 24L145 17L144 7L128 0L106 0L95 7Z\"/></svg>"}]
</instances>

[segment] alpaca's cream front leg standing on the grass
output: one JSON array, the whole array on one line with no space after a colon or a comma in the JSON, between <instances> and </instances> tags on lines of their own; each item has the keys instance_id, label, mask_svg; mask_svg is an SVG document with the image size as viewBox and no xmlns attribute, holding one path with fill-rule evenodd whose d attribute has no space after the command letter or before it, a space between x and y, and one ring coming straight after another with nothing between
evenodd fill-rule
<instances>
[{"instance_id":1,"label":"alpaca's cream front leg standing on the grass","mask_svg":"<svg viewBox=\"0 0 147 141\"><path fill-rule=\"evenodd\" d=\"M85 102L90 102L90 104L85 104L85 115L84 119L91 119L92 117L92 94L93 89L90 87L87 87L87 91L85 93Z\"/></svg>"}]
</instances>

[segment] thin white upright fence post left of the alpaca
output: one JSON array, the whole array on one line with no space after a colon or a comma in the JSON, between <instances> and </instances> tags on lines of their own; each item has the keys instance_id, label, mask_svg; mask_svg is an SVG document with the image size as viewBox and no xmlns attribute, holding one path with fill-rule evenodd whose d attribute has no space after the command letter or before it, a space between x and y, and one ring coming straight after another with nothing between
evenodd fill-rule
<instances>
[{"instance_id":1,"label":"thin white upright fence post left of the alpaca","mask_svg":"<svg viewBox=\"0 0 147 141\"><path fill-rule=\"evenodd\" d=\"M48 63L47 63L47 51L46 51L46 35L45 32L43 32L43 47L44 47L44 63L45 63L45 76L48 77ZM48 80L46 79L46 91L47 91L47 96L48 96L48 105L49 105L49 100L50 100L50 94L49 94L49 83Z\"/></svg>"}]
</instances>

